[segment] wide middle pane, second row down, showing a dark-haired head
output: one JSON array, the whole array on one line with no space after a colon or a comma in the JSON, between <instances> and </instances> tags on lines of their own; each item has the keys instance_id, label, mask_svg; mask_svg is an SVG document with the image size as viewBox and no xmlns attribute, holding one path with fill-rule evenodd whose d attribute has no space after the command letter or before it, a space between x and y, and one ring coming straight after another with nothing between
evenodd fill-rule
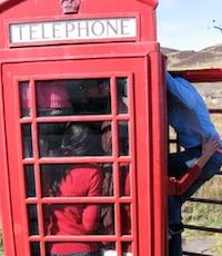
<instances>
[{"instance_id":1,"label":"wide middle pane, second row down, showing a dark-haired head","mask_svg":"<svg viewBox=\"0 0 222 256\"><path fill-rule=\"evenodd\" d=\"M40 124L40 156L102 156L101 125L99 121Z\"/></svg>"}]
</instances>

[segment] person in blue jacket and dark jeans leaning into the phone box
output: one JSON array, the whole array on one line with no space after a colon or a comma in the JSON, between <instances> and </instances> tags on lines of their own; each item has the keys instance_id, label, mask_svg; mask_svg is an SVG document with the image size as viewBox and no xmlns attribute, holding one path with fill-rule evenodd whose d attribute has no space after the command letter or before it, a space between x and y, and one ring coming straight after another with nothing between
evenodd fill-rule
<instances>
[{"instance_id":1,"label":"person in blue jacket and dark jeans leaning into the phone box","mask_svg":"<svg viewBox=\"0 0 222 256\"><path fill-rule=\"evenodd\" d=\"M219 148L203 167L200 177L181 196L169 196L169 255L182 256L181 232L183 230L181 207L222 165L222 140L210 119L209 109L194 86L181 77L167 72L168 119L184 149L170 154L170 177L179 178L202 154L202 144L213 138Z\"/></svg>"}]
</instances>

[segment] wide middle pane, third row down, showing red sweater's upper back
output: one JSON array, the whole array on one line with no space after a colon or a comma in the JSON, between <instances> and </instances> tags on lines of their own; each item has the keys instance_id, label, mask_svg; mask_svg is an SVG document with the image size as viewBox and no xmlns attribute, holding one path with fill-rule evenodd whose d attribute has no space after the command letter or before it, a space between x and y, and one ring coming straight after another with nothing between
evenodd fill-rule
<instances>
[{"instance_id":1,"label":"wide middle pane, third row down, showing red sweater's upper back","mask_svg":"<svg viewBox=\"0 0 222 256\"><path fill-rule=\"evenodd\" d=\"M95 164L42 165L43 196L102 196L103 171Z\"/></svg>"}]
</instances>

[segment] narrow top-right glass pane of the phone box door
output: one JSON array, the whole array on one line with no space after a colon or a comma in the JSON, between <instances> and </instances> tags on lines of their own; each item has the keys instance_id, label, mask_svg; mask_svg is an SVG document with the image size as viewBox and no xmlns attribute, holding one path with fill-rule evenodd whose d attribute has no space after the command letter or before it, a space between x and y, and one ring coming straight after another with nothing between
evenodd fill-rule
<instances>
[{"instance_id":1,"label":"narrow top-right glass pane of the phone box door","mask_svg":"<svg viewBox=\"0 0 222 256\"><path fill-rule=\"evenodd\" d=\"M128 80L127 78L117 78L118 87L118 112L125 114L128 112Z\"/></svg>"}]
</instances>

